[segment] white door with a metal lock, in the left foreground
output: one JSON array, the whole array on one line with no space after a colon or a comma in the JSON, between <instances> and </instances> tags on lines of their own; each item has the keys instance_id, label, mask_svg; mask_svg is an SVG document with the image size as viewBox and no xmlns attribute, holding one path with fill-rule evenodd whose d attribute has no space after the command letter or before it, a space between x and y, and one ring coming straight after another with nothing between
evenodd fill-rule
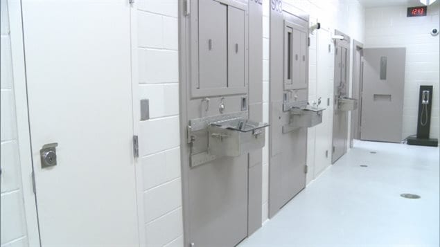
<instances>
[{"instance_id":1,"label":"white door with a metal lock, in the left foreground","mask_svg":"<svg viewBox=\"0 0 440 247\"><path fill-rule=\"evenodd\" d=\"M139 245L128 1L22 0L42 246ZM40 149L58 143L57 165Z\"/></svg>"}]
</instances>

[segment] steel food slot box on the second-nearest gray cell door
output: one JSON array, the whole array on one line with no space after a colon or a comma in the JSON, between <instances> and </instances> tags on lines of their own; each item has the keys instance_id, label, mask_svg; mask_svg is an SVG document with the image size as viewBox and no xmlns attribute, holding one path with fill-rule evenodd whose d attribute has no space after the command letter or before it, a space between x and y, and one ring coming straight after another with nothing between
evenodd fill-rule
<instances>
[{"instance_id":1,"label":"steel food slot box on the second-nearest gray cell door","mask_svg":"<svg viewBox=\"0 0 440 247\"><path fill-rule=\"evenodd\" d=\"M322 123L322 111L325 108L310 106L309 104L301 107L290 108L290 120L288 125L283 126L283 133L288 133L299 128L310 128Z\"/></svg>"}]
</instances>

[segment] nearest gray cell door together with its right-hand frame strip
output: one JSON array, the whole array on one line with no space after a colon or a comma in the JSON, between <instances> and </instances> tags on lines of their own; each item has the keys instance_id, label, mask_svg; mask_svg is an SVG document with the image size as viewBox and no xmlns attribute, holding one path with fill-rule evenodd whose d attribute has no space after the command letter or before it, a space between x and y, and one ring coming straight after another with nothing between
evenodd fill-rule
<instances>
[{"instance_id":1,"label":"nearest gray cell door together with its right-hand frame strip","mask_svg":"<svg viewBox=\"0 0 440 247\"><path fill-rule=\"evenodd\" d=\"M189 14L179 16L182 131L189 120L229 113L261 121L261 66L249 69L249 57L262 60L261 5L190 3ZM183 1L179 4L185 9ZM249 34L258 39L252 47ZM184 246L235 246L261 226L261 149L191 167L191 152L204 155L208 136L200 134L191 144L182 138Z\"/></svg>"}]
</instances>

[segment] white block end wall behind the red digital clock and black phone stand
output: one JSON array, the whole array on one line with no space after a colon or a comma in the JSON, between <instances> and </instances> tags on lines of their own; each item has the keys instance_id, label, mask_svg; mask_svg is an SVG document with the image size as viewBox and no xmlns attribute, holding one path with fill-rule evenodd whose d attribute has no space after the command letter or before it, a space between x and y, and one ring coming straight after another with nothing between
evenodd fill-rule
<instances>
[{"instance_id":1,"label":"white block end wall behind the red digital clock and black phone stand","mask_svg":"<svg viewBox=\"0 0 440 247\"><path fill-rule=\"evenodd\" d=\"M440 3L428 6L427 16L407 17L407 7L390 6L366 10L364 48L406 47L402 138L416 134L419 86L433 85L430 136L439 138L439 40Z\"/></svg>"}]
</instances>

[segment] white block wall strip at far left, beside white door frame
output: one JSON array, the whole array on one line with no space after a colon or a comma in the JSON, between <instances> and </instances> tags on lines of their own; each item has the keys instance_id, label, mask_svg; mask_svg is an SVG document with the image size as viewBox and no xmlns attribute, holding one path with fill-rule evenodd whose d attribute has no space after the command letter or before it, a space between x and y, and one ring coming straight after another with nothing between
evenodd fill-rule
<instances>
[{"instance_id":1,"label":"white block wall strip at far left, beside white door frame","mask_svg":"<svg viewBox=\"0 0 440 247\"><path fill-rule=\"evenodd\" d=\"M8 3L0 1L1 82L1 246L27 246L26 215L17 140L14 76L10 46Z\"/></svg>"}]
</instances>

